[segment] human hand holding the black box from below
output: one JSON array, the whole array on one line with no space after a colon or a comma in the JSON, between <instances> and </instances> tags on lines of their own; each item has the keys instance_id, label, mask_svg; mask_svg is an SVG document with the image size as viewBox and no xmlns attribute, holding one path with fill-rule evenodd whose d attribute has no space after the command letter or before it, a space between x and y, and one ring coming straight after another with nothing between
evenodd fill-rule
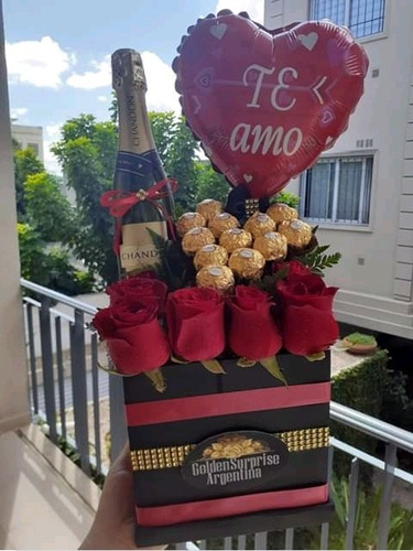
<instances>
[{"instance_id":1,"label":"human hand holding the black box from below","mask_svg":"<svg viewBox=\"0 0 413 551\"><path fill-rule=\"evenodd\" d=\"M110 466L94 523L79 549L143 549L134 543L134 525L133 474L126 446Z\"/></svg>"}]
</instances>

